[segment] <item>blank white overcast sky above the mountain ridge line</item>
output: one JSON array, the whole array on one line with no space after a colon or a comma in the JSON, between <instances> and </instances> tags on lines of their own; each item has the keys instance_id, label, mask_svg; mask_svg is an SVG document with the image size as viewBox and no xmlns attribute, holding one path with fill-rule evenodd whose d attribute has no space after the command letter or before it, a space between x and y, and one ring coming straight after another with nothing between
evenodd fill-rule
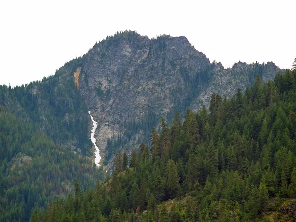
<instances>
[{"instance_id":1,"label":"blank white overcast sky above the mountain ridge line","mask_svg":"<svg viewBox=\"0 0 296 222\"><path fill-rule=\"evenodd\" d=\"M296 0L1 0L0 84L40 80L120 30L185 36L212 62L296 56Z\"/></svg>"}]
</instances>

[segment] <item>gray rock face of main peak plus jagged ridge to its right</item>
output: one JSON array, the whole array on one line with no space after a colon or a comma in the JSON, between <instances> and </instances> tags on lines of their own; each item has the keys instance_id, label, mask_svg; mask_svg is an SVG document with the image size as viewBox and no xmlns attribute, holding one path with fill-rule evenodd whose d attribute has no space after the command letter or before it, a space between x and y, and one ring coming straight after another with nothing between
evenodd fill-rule
<instances>
[{"instance_id":1,"label":"gray rock face of main peak plus jagged ridge to its right","mask_svg":"<svg viewBox=\"0 0 296 222\"><path fill-rule=\"evenodd\" d=\"M114 153L106 150L109 139L125 138L130 150L147 134L139 129L125 137L131 131L127 122L147 124L149 114L170 119L187 106L197 111L203 104L208 107L212 93L230 97L238 87L250 86L256 74L267 81L277 71L283 72L270 62L238 62L224 69L221 63L211 64L184 36L149 39L124 32L95 44L83 56L79 90L98 122L97 145L112 159Z\"/></svg>"}]
</instances>

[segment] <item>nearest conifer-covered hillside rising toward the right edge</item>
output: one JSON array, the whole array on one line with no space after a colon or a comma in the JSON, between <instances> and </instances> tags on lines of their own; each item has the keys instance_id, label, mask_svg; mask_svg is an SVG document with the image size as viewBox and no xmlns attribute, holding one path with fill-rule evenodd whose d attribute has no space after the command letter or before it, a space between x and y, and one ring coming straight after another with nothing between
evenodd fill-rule
<instances>
[{"instance_id":1,"label":"nearest conifer-covered hillside rising toward the right edge","mask_svg":"<svg viewBox=\"0 0 296 222\"><path fill-rule=\"evenodd\" d=\"M77 182L32 222L296 220L295 137L296 71L257 76L244 94L212 94L209 112L161 119L150 148L117 153L111 180Z\"/></svg>"}]
</instances>

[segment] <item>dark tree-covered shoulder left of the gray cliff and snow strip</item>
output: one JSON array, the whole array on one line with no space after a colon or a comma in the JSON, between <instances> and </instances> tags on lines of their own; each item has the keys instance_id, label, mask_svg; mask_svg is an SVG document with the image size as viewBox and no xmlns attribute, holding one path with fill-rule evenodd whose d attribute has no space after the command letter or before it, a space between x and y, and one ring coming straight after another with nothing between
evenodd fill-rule
<instances>
[{"instance_id":1,"label":"dark tree-covered shoulder left of the gray cliff and snow strip","mask_svg":"<svg viewBox=\"0 0 296 222\"><path fill-rule=\"evenodd\" d=\"M55 143L77 141L83 155L92 146L88 135L90 117L87 106L74 83L73 73L81 67L82 58L74 59L42 81L15 88L0 86L0 104L26 124L42 129Z\"/></svg>"}]
</instances>

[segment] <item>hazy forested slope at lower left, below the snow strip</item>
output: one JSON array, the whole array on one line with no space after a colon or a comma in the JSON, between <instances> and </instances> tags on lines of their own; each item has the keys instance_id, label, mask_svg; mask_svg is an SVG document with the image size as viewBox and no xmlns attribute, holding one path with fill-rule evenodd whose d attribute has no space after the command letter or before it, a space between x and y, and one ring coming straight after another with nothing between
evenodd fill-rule
<instances>
[{"instance_id":1,"label":"hazy forested slope at lower left, below the snow strip","mask_svg":"<svg viewBox=\"0 0 296 222\"><path fill-rule=\"evenodd\" d=\"M35 205L104 180L93 160L55 144L0 105L0 222L26 222Z\"/></svg>"}]
</instances>

